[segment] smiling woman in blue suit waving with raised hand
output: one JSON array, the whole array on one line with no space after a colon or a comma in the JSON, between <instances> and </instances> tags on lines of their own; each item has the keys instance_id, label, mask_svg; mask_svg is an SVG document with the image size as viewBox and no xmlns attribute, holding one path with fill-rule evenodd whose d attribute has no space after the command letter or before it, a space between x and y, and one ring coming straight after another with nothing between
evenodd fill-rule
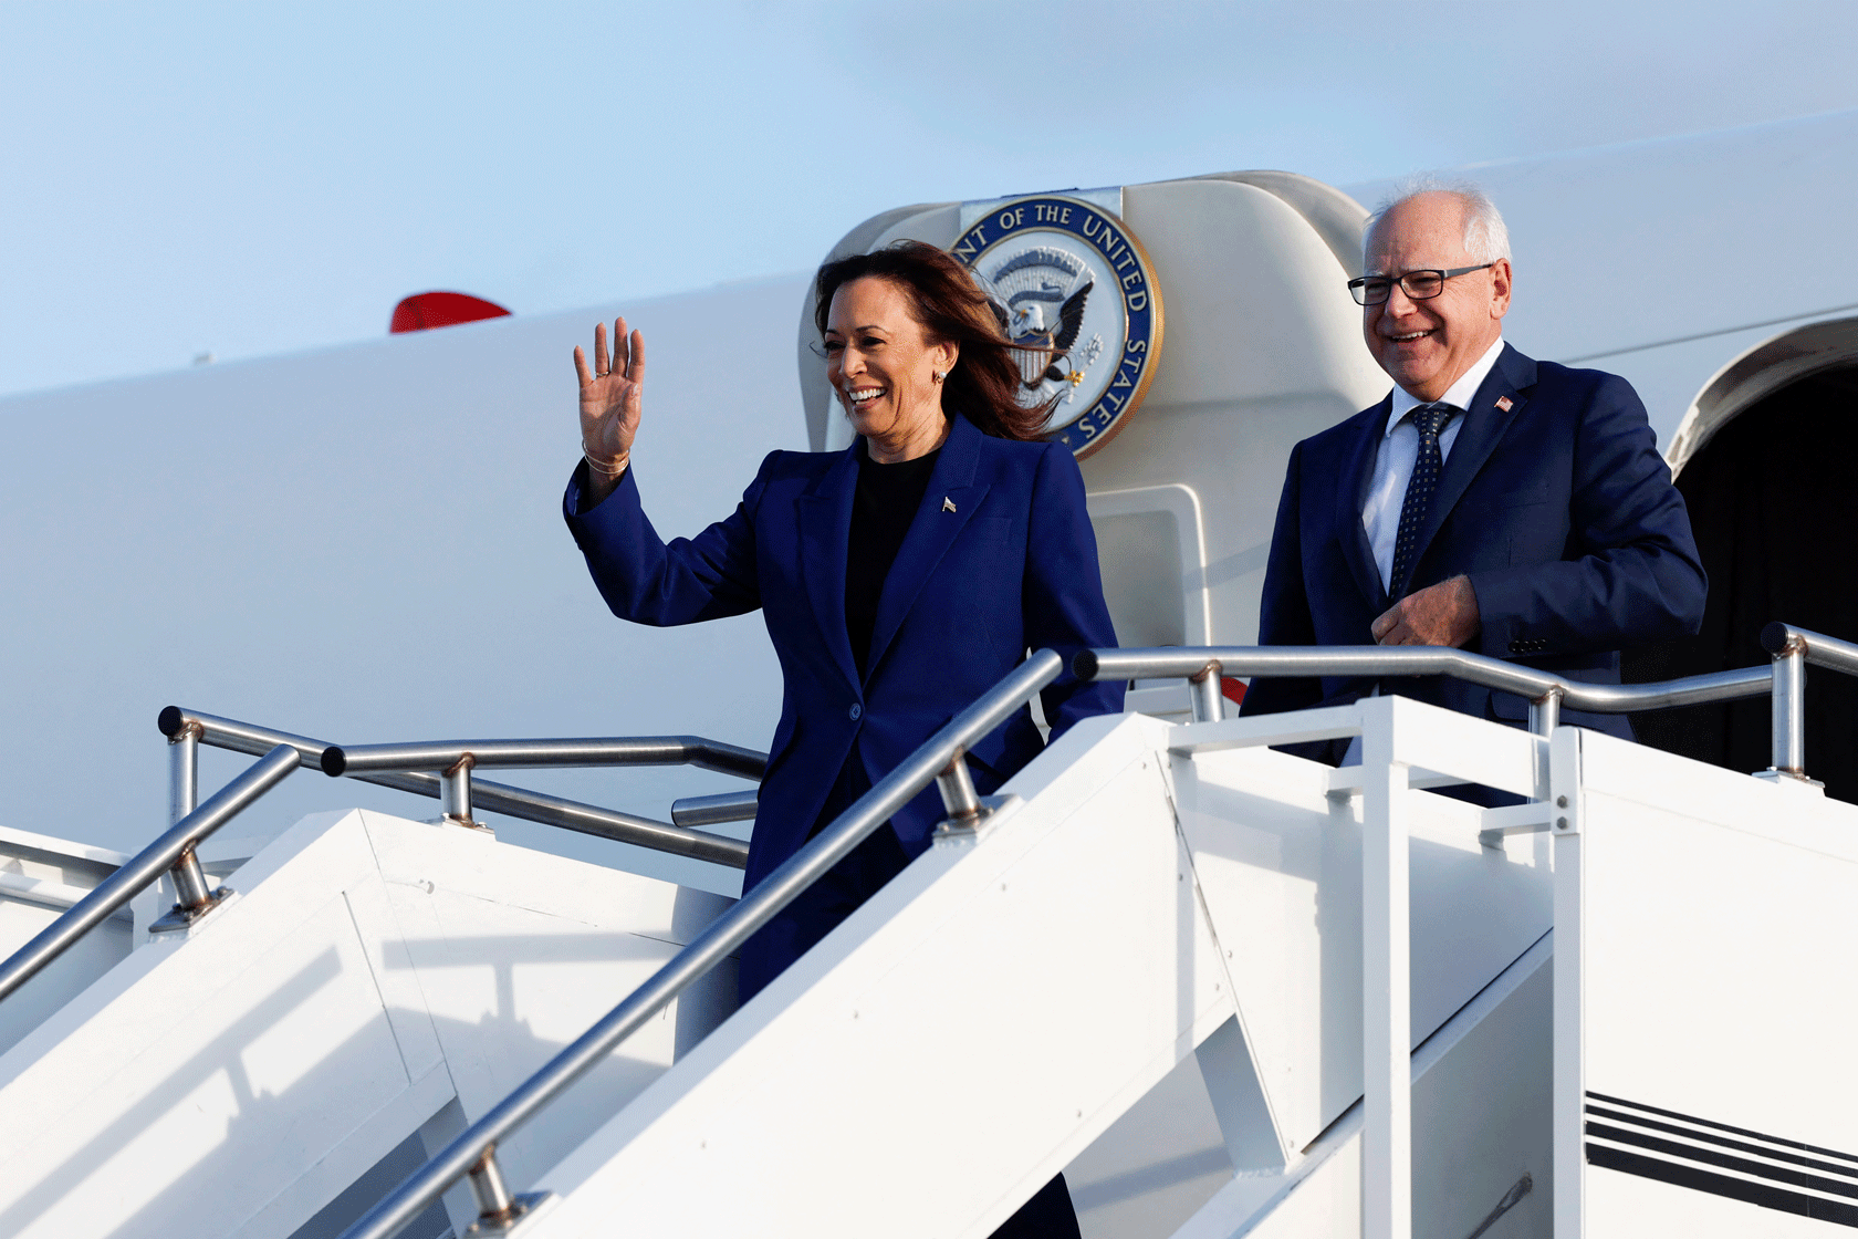
<instances>
[{"instance_id":1,"label":"smiling woman in blue suit waving with raised hand","mask_svg":"<svg viewBox=\"0 0 1858 1239\"><path fill-rule=\"evenodd\" d=\"M814 321L840 407L842 451L775 451L736 511L695 539L658 537L632 444L645 338L595 327L574 349L582 457L563 515L615 615L691 624L760 609L780 656L743 890L773 873L875 780L1000 682L1027 648L1066 658L1117 643L1072 453L1040 442L1046 411L1016 401L1018 362L985 293L918 241L821 267ZM1122 710L1120 684L1068 674L1040 698L1052 737ZM1044 741L1027 708L968 752L998 789ZM929 847L925 788L741 949L749 999ZM881 1219L873 1219L877 1222ZM1063 1176L1000 1232L1078 1235Z\"/></svg>"}]
</instances>

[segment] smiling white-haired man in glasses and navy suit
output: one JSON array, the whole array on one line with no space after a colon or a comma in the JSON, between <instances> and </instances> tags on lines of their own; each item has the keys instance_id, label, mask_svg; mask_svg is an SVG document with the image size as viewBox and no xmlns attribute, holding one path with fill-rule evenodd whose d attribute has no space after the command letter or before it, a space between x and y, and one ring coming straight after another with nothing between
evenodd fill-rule
<instances>
[{"instance_id":1,"label":"smiling white-haired man in glasses and navy suit","mask_svg":"<svg viewBox=\"0 0 1858 1239\"><path fill-rule=\"evenodd\" d=\"M1704 568L1644 405L1618 375L1503 342L1509 234L1490 199L1405 193L1369 219L1364 260L1349 288L1394 390L1291 451L1260 645L1464 646L1618 684L1624 646L1694 633ZM1241 710L1369 693L1527 715L1462 680L1362 676L1262 678ZM1631 737L1622 715L1563 721Z\"/></svg>"}]
</instances>

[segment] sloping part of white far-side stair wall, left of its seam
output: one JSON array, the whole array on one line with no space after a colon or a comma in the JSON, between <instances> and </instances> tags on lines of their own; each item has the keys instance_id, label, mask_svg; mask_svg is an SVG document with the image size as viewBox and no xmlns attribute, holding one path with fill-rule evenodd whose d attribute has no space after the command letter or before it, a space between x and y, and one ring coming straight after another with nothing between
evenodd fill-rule
<instances>
[{"instance_id":1,"label":"sloping part of white far-side stair wall, left of its seam","mask_svg":"<svg viewBox=\"0 0 1858 1239\"><path fill-rule=\"evenodd\" d=\"M290 897L136 951L0 1059L0 1230L197 1233L204 1183L236 1226L418 1083L342 893L372 871L360 821L295 834Z\"/></svg>"}]
</instances>

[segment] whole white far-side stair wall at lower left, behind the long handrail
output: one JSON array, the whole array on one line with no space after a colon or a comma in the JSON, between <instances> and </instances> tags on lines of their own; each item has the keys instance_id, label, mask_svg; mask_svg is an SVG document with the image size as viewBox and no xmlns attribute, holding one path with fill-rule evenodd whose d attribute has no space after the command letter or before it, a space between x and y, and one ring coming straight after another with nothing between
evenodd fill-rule
<instances>
[{"instance_id":1,"label":"whole white far-side stair wall at lower left, behind the long handrail","mask_svg":"<svg viewBox=\"0 0 1858 1239\"><path fill-rule=\"evenodd\" d=\"M726 906L362 812L303 819L230 884L0 1057L0 1232L290 1235L448 1107L479 1116ZM732 986L632 1038L505 1165L580 1142Z\"/></svg>"}]
</instances>

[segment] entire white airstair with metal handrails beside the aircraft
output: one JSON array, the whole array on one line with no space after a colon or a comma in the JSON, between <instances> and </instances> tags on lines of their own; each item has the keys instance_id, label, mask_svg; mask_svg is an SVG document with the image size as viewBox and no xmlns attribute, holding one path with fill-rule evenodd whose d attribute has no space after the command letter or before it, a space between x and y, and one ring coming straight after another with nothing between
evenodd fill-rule
<instances>
[{"instance_id":1,"label":"entire white airstair with metal handrails beside the aircraft","mask_svg":"<svg viewBox=\"0 0 1858 1239\"><path fill-rule=\"evenodd\" d=\"M1635 687L1459 650L1085 652L1187 680L1191 715L1085 721L975 797L962 750L1061 671L1042 652L736 903L468 825L487 797L602 812L474 767L717 760L700 741L331 750L210 721L268 752L251 782L115 867L173 875L169 923L98 912L93 858L65 916L95 981L71 992L69 951L0 966L0 1012L65 986L0 1055L0 1232L985 1237L1066 1170L1093 1239L1834 1233L1858 806L1806 778L1799 702L1858 646L1773 637L1771 667ZM1401 697L1221 717L1221 674L1319 659L1524 693L1531 730ZM1750 695L1776 721L1754 778L1557 724ZM1275 749L1354 736L1341 769ZM305 760L448 815L318 814L190 873ZM931 780L933 849L734 1011L739 942ZM1182 1211L1163 1150L1197 1115L1226 1172ZM1085 1207L1085 1165L1150 1207Z\"/></svg>"}]
</instances>

